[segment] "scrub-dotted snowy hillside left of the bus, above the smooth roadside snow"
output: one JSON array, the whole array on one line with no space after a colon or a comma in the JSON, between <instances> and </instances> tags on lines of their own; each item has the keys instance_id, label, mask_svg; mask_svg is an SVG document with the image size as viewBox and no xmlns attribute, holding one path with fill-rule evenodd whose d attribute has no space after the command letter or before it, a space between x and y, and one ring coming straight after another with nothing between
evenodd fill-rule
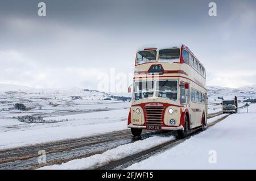
<instances>
[{"instance_id":1,"label":"scrub-dotted snowy hillside left of the bus, above the smooth roadside snow","mask_svg":"<svg viewBox=\"0 0 256 181\"><path fill-rule=\"evenodd\" d=\"M25 110L17 110L15 104ZM19 105L18 105L19 106ZM88 89L32 89L0 84L0 118L127 108L127 97Z\"/></svg>"}]
</instances>

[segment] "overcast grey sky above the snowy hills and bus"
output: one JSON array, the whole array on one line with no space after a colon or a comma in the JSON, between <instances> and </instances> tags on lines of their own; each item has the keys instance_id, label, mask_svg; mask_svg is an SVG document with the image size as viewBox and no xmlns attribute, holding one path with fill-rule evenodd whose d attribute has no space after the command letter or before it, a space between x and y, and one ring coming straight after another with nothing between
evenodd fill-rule
<instances>
[{"instance_id":1,"label":"overcast grey sky above the snowy hills and bus","mask_svg":"<svg viewBox=\"0 0 256 181\"><path fill-rule=\"evenodd\" d=\"M0 83L97 89L102 72L133 72L138 47L178 42L204 64L207 85L256 84L255 0L1 0L0 37Z\"/></svg>"}]
</instances>

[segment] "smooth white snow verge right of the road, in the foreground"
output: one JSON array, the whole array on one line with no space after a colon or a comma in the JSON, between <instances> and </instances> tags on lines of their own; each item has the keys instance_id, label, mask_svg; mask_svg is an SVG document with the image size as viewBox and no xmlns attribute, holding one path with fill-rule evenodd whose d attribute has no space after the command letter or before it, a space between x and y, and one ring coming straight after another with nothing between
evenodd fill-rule
<instances>
[{"instance_id":1,"label":"smooth white snow verge right of the road, in the foreground","mask_svg":"<svg viewBox=\"0 0 256 181\"><path fill-rule=\"evenodd\" d=\"M256 104L127 169L256 169Z\"/></svg>"}]
</instances>

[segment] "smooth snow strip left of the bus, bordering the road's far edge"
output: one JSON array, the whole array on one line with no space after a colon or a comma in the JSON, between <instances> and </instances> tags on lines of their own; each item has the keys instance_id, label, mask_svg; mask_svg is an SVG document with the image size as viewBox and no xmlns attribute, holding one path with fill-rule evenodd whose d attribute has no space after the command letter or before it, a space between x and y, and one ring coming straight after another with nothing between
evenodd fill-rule
<instances>
[{"instance_id":1,"label":"smooth snow strip left of the bus, bordering the road's far edge","mask_svg":"<svg viewBox=\"0 0 256 181\"><path fill-rule=\"evenodd\" d=\"M69 120L60 123L21 123L17 119L0 119L0 149L127 129L128 114L129 109L125 109L54 117Z\"/></svg>"}]
</instances>

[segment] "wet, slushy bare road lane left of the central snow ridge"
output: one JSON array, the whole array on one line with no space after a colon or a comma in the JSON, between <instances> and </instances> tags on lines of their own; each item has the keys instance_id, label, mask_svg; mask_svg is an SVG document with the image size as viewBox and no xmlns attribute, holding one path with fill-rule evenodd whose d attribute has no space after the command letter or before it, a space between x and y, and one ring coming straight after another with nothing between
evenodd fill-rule
<instances>
[{"instance_id":1,"label":"wet, slushy bare road lane left of the central snow ridge","mask_svg":"<svg viewBox=\"0 0 256 181\"><path fill-rule=\"evenodd\" d=\"M141 139L160 132L144 132ZM100 134L72 140L24 146L0 151L0 169L36 169L102 153L119 145L134 142L130 130ZM46 151L47 164L38 163L38 151Z\"/></svg>"}]
</instances>

